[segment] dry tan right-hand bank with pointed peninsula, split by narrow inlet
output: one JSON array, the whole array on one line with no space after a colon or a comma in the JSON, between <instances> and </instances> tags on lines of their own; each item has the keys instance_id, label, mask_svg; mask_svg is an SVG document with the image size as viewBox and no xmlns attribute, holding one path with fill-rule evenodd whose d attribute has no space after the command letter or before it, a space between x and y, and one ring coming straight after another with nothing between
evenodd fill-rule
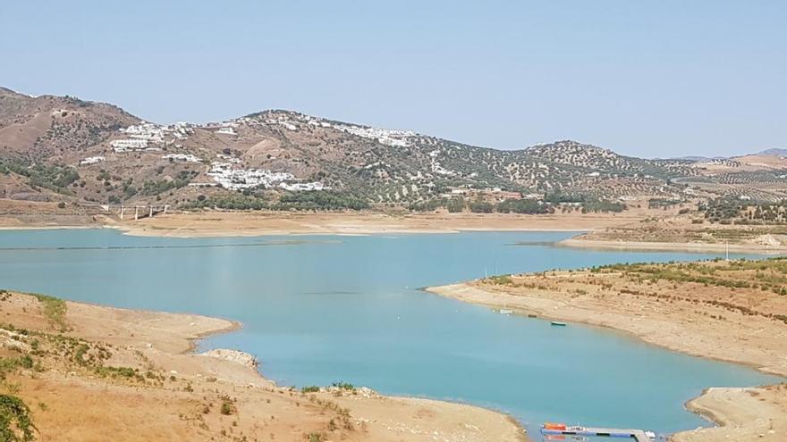
<instances>
[{"instance_id":1,"label":"dry tan right-hand bank with pointed peninsula, split by narrow inlet","mask_svg":"<svg viewBox=\"0 0 787 442\"><path fill-rule=\"evenodd\" d=\"M619 329L683 353L787 376L783 258L615 264L496 276L427 290L520 314ZM724 427L681 433L675 440L777 442L787 434L784 386L713 388L689 406ZM740 413L741 407L753 408ZM752 414L759 417L749 419Z\"/></svg>"}]
</instances>

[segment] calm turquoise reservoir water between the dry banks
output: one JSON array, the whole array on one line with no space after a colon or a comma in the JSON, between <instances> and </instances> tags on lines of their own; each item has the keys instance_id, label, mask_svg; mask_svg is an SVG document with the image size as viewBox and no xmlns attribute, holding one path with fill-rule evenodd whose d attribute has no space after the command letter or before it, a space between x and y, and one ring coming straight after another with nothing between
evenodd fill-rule
<instances>
[{"instance_id":1,"label":"calm turquoise reservoir water between the dry banks","mask_svg":"<svg viewBox=\"0 0 787 442\"><path fill-rule=\"evenodd\" d=\"M714 254L550 246L571 233L137 238L111 229L0 231L0 288L241 321L202 349L257 354L280 385L347 381L543 421L707 426L683 404L711 386L781 379L614 331L506 316L418 288L484 276Z\"/></svg>"}]
</instances>

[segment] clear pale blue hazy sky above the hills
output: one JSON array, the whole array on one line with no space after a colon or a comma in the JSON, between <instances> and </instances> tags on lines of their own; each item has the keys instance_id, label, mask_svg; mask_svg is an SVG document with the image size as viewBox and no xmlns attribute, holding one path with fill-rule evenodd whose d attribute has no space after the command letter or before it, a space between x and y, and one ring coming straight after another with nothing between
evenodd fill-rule
<instances>
[{"instance_id":1,"label":"clear pale blue hazy sky above the hills","mask_svg":"<svg viewBox=\"0 0 787 442\"><path fill-rule=\"evenodd\" d=\"M269 108L479 146L787 147L787 1L12 1L0 85L157 121Z\"/></svg>"}]
</instances>

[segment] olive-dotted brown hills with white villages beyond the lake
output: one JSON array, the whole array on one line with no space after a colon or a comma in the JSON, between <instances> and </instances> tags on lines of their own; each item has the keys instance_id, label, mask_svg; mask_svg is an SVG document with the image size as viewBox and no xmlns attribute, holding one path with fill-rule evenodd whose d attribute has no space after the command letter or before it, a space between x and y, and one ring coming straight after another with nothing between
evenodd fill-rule
<instances>
[{"instance_id":1,"label":"olive-dotted brown hills with white villages beyond the lake","mask_svg":"<svg viewBox=\"0 0 787 442\"><path fill-rule=\"evenodd\" d=\"M783 153L658 160L571 140L496 150L282 110L164 126L112 104L0 88L0 198L182 207L345 197L407 207L546 195L774 200L787 196Z\"/></svg>"}]
</instances>

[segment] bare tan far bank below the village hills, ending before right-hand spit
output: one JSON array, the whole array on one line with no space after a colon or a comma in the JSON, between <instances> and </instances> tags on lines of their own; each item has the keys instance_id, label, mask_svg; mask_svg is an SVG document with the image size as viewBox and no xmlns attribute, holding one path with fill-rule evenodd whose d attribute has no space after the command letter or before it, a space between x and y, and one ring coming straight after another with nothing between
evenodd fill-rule
<instances>
[{"instance_id":1,"label":"bare tan far bank below the village hills, ending before right-hand spit","mask_svg":"<svg viewBox=\"0 0 787 442\"><path fill-rule=\"evenodd\" d=\"M221 237L284 234L448 233L461 230L581 231L623 226L662 211L632 208L623 213L381 213L267 211L202 211L158 214L124 220L118 213L56 203L0 198L0 229L57 227L115 227L131 235Z\"/></svg>"}]
</instances>

